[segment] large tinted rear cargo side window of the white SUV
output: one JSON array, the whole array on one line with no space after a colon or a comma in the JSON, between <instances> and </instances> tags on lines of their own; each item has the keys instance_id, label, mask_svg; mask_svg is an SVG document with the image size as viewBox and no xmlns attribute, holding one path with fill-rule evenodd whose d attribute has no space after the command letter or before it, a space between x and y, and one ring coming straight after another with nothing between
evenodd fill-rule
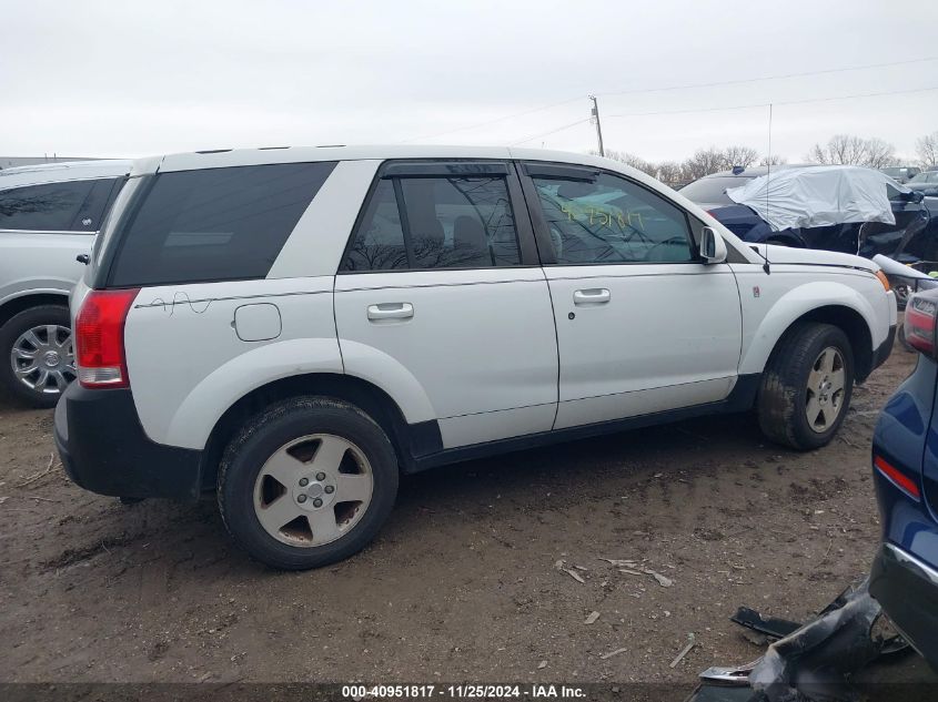
<instances>
[{"instance_id":1,"label":"large tinted rear cargo side window of the white SUV","mask_svg":"<svg viewBox=\"0 0 938 702\"><path fill-rule=\"evenodd\" d=\"M161 173L128 214L109 284L263 278L335 162Z\"/></svg>"}]
</instances>

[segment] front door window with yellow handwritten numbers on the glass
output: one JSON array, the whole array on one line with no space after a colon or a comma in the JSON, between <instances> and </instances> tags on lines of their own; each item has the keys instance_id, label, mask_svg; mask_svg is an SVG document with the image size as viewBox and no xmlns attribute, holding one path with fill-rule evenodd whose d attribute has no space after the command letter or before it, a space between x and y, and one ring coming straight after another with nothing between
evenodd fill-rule
<instances>
[{"instance_id":1,"label":"front door window with yellow handwritten numbers on the glass","mask_svg":"<svg viewBox=\"0 0 938 702\"><path fill-rule=\"evenodd\" d=\"M615 175L594 182L535 177L557 264L693 261L684 212Z\"/></svg>"}]
</instances>

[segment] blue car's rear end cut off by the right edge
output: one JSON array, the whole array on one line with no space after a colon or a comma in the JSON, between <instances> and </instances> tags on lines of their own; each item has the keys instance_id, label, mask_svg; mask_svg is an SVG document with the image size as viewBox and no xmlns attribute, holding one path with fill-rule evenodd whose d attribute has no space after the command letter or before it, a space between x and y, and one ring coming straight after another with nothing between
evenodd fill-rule
<instances>
[{"instance_id":1,"label":"blue car's rear end cut off by the right edge","mask_svg":"<svg viewBox=\"0 0 938 702\"><path fill-rule=\"evenodd\" d=\"M906 306L915 372L886 404L873 439L882 545L869 591L896 628L938 670L938 289Z\"/></svg>"}]
</instances>

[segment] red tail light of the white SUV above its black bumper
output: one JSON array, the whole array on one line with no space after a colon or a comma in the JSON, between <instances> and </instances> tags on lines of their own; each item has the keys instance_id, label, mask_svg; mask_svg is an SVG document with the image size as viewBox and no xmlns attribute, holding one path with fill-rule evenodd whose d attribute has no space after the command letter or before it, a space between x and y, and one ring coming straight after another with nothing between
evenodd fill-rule
<instances>
[{"instance_id":1,"label":"red tail light of the white SUV above its black bumper","mask_svg":"<svg viewBox=\"0 0 938 702\"><path fill-rule=\"evenodd\" d=\"M75 365L82 387L127 387L123 328L139 289L91 291L75 319Z\"/></svg>"}]
</instances>

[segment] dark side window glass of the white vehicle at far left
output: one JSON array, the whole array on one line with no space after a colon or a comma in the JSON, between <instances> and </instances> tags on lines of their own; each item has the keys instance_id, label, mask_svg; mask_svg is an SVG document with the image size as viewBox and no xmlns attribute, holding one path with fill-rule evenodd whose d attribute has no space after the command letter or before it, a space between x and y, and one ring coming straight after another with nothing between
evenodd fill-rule
<instances>
[{"instance_id":1,"label":"dark side window glass of the white vehicle at far left","mask_svg":"<svg viewBox=\"0 0 938 702\"><path fill-rule=\"evenodd\" d=\"M95 232L115 179L0 191L0 230Z\"/></svg>"}]
</instances>

